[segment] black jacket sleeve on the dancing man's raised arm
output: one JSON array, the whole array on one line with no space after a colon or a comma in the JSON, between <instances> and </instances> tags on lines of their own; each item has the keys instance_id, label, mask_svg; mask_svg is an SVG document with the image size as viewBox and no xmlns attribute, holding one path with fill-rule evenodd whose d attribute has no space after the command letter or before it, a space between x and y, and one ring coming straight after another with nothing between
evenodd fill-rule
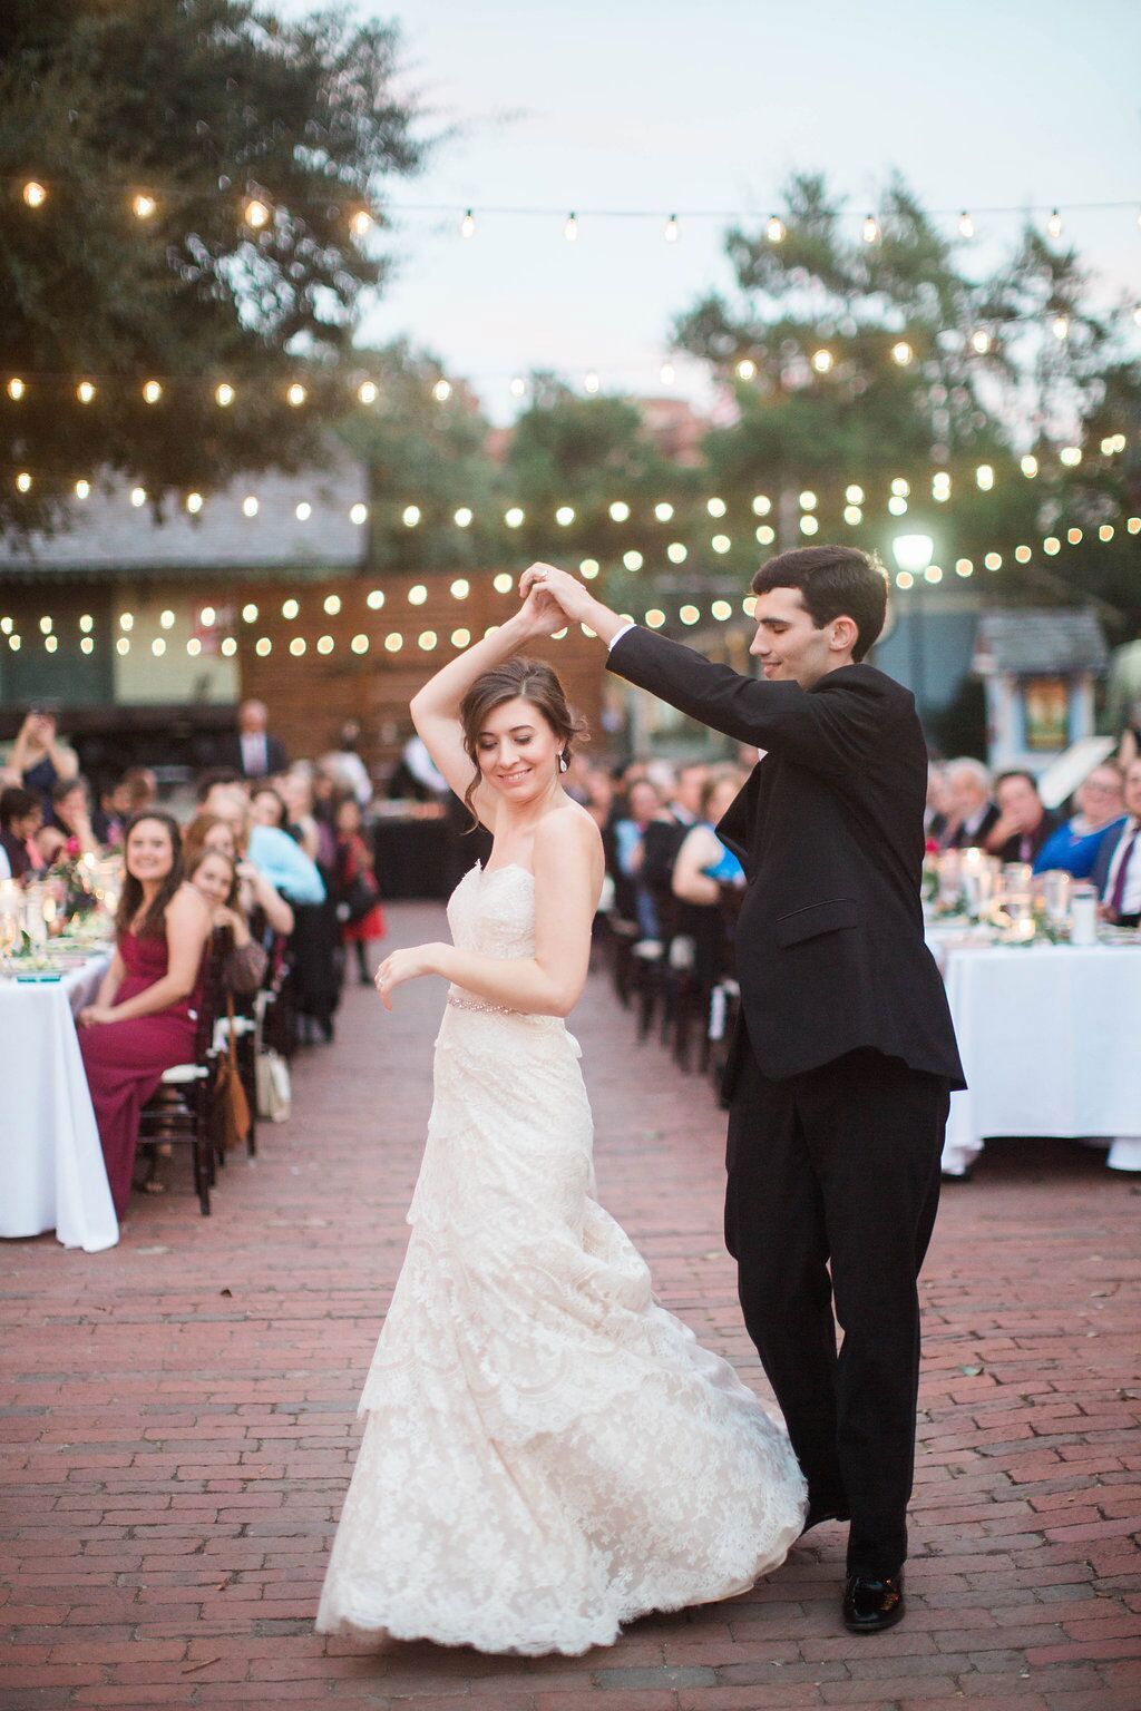
<instances>
[{"instance_id":1,"label":"black jacket sleeve on the dancing man's raised arm","mask_svg":"<svg viewBox=\"0 0 1141 1711\"><path fill-rule=\"evenodd\" d=\"M902 713L900 700L874 676L842 669L806 691L797 683L746 678L638 625L618 631L606 664L712 731L814 772L859 767Z\"/></svg>"}]
</instances>

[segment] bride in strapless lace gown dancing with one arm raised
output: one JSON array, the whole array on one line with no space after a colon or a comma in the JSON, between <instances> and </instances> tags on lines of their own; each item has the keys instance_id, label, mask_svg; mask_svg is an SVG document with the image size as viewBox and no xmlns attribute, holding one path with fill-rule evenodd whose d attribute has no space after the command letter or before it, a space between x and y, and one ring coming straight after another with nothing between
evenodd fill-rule
<instances>
[{"instance_id":1,"label":"bride in strapless lace gown dancing with one arm raised","mask_svg":"<svg viewBox=\"0 0 1141 1711\"><path fill-rule=\"evenodd\" d=\"M518 657L565 623L534 589L412 702L494 842L452 893L453 943L393 951L376 975L388 1009L405 980L450 986L316 1615L328 1634L576 1655L650 1610L744 1591L806 1518L783 1425L653 1300L592 1198L563 1018L587 979L602 840L559 784L582 727L553 669Z\"/></svg>"}]
</instances>

